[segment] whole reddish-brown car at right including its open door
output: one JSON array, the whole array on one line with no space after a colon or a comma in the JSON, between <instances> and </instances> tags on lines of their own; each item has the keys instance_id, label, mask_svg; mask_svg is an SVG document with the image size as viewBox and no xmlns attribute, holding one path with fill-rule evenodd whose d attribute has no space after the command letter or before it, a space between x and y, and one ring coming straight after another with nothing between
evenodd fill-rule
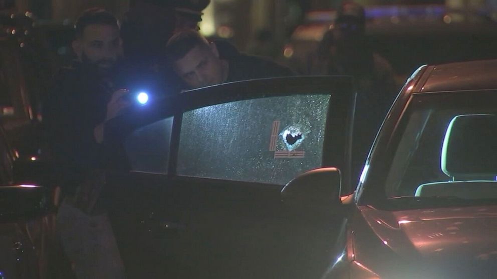
<instances>
[{"instance_id":1,"label":"whole reddish-brown car at right including its open door","mask_svg":"<svg viewBox=\"0 0 497 279\"><path fill-rule=\"evenodd\" d=\"M130 277L495 274L496 73L497 60L418 69L357 189L348 77L240 81L137 105L105 139L104 196Z\"/></svg>"}]
</instances>

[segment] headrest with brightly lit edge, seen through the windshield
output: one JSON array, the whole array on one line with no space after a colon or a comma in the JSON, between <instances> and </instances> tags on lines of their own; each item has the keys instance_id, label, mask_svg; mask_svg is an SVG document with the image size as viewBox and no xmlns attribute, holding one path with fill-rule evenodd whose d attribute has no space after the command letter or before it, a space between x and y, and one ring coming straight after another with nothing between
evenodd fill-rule
<instances>
[{"instance_id":1,"label":"headrest with brightly lit edge, seen through the windshield","mask_svg":"<svg viewBox=\"0 0 497 279\"><path fill-rule=\"evenodd\" d=\"M497 116L455 116L443 140L441 167L450 177L497 176Z\"/></svg>"}]
</instances>

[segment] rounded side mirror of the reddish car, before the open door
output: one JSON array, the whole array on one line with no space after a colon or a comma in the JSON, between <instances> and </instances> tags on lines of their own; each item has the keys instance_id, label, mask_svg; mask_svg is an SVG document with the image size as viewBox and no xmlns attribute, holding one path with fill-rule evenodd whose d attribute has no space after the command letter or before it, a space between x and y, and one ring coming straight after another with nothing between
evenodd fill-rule
<instances>
[{"instance_id":1,"label":"rounded side mirror of the reddish car, before the open door","mask_svg":"<svg viewBox=\"0 0 497 279\"><path fill-rule=\"evenodd\" d=\"M291 207L321 211L342 204L340 189L340 170L336 167L323 167L292 179L281 190L281 197Z\"/></svg>"}]
</instances>

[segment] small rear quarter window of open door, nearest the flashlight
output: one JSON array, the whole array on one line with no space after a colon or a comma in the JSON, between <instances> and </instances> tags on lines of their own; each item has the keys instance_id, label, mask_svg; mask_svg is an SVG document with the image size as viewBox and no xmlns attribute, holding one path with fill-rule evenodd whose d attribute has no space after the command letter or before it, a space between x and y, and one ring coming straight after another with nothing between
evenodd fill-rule
<instances>
[{"instance_id":1,"label":"small rear quarter window of open door, nearest the flashlight","mask_svg":"<svg viewBox=\"0 0 497 279\"><path fill-rule=\"evenodd\" d=\"M135 130L124 147L131 170L167 174L173 117Z\"/></svg>"}]
</instances>

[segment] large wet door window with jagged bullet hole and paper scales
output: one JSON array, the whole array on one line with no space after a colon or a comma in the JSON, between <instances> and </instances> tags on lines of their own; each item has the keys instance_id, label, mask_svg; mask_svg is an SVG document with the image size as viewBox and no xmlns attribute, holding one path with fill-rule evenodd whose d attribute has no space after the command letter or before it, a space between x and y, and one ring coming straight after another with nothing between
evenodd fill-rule
<instances>
[{"instance_id":1,"label":"large wet door window with jagged bullet hole and paper scales","mask_svg":"<svg viewBox=\"0 0 497 279\"><path fill-rule=\"evenodd\" d=\"M322 166L329 94L268 97L183 114L179 175L286 184Z\"/></svg>"}]
</instances>

